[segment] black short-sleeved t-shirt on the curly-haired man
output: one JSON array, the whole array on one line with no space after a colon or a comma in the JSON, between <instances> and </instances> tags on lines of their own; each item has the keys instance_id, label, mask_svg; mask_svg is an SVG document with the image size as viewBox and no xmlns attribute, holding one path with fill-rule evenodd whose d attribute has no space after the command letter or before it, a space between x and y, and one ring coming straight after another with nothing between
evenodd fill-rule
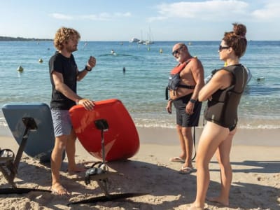
<instances>
[{"instance_id":1,"label":"black short-sleeved t-shirt on the curly-haired man","mask_svg":"<svg viewBox=\"0 0 280 210\"><path fill-rule=\"evenodd\" d=\"M59 52L55 52L49 61L50 83L52 84L52 99L50 101L50 109L69 110L76 105L71 99L67 98L61 92L55 90L55 84L52 79L52 71L62 73L64 84L73 92L77 90L77 65L73 55L64 57Z\"/></svg>"}]
</instances>

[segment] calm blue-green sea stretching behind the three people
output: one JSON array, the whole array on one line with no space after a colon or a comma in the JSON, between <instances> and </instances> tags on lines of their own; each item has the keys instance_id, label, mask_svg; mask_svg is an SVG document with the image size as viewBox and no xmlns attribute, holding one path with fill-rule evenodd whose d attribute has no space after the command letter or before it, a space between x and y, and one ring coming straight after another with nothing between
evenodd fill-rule
<instances>
[{"instance_id":1,"label":"calm blue-green sea stretching behind the three people","mask_svg":"<svg viewBox=\"0 0 280 210\"><path fill-rule=\"evenodd\" d=\"M79 50L73 53L79 69L90 55L97 58L97 66L78 83L78 94L95 101L120 99L137 126L174 127L175 113L165 111L165 87L169 71L176 65L171 55L174 43L159 41L147 46L127 41L80 41ZM205 76L223 66L218 58L220 41L186 43L191 55L202 61ZM112 49L116 55L111 55ZM48 59L54 52L52 41L0 42L1 107L10 102L49 104ZM280 128L280 41L249 41L241 63L253 78L241 99L238 126ZM24 68L22 73L18 66ZM200 120L202 126L202 117ZM6 125L1 111L0 125Z\"/></svg>"}]
</instances>

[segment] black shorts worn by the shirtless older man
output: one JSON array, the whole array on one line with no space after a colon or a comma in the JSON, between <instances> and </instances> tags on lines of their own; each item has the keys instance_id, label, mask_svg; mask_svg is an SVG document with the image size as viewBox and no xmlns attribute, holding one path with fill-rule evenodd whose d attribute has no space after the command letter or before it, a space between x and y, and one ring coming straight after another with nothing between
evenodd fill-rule
<instances>
[{"instance_id":1,"label":"black shorts worn by the shirtless older man","mask_svg":"<svg viewBox=\"0 0 280 210\"><path fill-rule=\"evenodd\" d=\"M186 106L192 97L192 94L188 94L184 97L173 101L176 109L176 123L182 127L194 127L197 126L200 120L200 111L202 108L202 102L195 102L195 108L193 114L189 115L186 113Z\"/></svg>"}]
</instances>

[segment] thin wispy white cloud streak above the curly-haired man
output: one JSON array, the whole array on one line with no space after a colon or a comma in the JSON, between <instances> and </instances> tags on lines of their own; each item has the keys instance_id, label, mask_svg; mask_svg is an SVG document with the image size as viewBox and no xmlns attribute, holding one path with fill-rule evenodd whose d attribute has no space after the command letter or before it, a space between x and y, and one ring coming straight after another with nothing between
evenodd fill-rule
<instances>
[{"instance_id":1,"label":"thin wispy white cloud streak above the curly-haired man","mask_svg":"<svg viewBox=\"0 0 280 210\"><path fill-rule=\"evenodd\" d=\"M90 14L90 15L64 15L61 13L52 13L50 14L52 18L59 20L116 20L116 18L127 18L131 16L131 13L99 13L99 14Z\"/></svg>"}]
</instances>

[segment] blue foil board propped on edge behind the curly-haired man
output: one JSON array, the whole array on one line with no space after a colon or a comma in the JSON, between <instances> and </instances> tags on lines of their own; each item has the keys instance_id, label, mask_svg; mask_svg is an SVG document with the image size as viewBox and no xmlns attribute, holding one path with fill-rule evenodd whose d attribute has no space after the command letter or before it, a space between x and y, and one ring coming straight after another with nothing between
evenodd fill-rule
<instances>
[{"instance_id":1,"label":"blue foil board propped on edge behind the curly-haired man","mask_svg":"<svg viewBox=\"0 0 280 210\"><path fill-rule=\"evenodd\" d=\"M37 130L29 133L25 153L40 162L50 162L55 134L49 106L43 103L10 103L3 105L2 111L13 137L19 145L26 128L22 118L34 118Z\"/></svg>"}]
</instances>

